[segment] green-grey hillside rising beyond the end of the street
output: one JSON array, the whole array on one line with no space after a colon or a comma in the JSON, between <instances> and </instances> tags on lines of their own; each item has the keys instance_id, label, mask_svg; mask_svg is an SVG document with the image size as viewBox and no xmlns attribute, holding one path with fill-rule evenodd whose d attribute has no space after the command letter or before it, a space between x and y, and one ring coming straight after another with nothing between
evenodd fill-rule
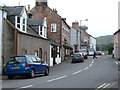
<instances>
[{"instance_id":1,"label":"green-grey hillside rising beyond the end of the street","mask_svg":"<svg viewBox=\"0 0 120 90\"><path fill-rule=\"evenodd\" d=\"M106 35L97 37L97 46L99 45L108 45L113 43L113 35Z\"/></svg>"}]
</instances>

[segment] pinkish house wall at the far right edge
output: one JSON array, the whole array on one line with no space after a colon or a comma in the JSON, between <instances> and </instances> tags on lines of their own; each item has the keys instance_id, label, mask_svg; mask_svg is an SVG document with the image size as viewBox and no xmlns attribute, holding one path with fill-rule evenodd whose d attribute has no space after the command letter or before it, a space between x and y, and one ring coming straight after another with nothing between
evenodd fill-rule
<instances>
[{"instance_id":1,"label":"pinkish house wall at the far right edge","mask_svg":"<svg viewBox=\"0 0 120 90\"><path fill-rule=\"evenodd\" d=\"M114 57L120 60L120 29L114 33Z\"/></svg>"}]
</instances>

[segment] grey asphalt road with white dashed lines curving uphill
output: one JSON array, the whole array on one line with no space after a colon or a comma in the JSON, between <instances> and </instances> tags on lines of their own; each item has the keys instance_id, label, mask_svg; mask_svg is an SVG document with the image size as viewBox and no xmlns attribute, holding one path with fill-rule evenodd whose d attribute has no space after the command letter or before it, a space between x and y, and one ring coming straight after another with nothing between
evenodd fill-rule
<instances>
[{"instance_id":1,"label":"grey asphalt road with white dashed lines curving uphill","mask_svg":"<svg viewBox=\"0 0 120 90\"><path fill-rule=\"evenodd\" d=\"M49 76L37 75L33 79L16 77L3 80L2 88L115 88L118 90L118 62L110 56L89 57L83 63L62 62L50 68ZM4 89L3 89L4 90ZM13 90L13 89L11 89Z\"/></svg>"}]
</instances>

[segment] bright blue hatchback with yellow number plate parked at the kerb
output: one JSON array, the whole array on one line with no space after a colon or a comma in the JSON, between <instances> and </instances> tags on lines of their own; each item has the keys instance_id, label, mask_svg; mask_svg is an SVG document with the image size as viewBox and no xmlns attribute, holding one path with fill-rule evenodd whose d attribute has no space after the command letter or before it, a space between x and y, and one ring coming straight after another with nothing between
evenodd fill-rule
<instances>
[{"instance_id":1,"label":"bright blue hatchback with yellow number plate parked at the kerb","mask_svg":"<svg viewBox=\"0 0 120 90\"><path fill-rule=\"evenodd\" d=\"M34 78L35 74L49 74L49 66L35 55L12 56L9 58L4 74L8 79L16 75L26 75Z\"/></svg>"}]
</instances>

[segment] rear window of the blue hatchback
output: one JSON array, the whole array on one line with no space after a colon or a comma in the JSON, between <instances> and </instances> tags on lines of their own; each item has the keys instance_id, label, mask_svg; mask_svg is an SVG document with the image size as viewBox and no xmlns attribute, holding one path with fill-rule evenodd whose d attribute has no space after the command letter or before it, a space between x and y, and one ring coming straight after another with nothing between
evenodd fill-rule
<instances>
[{"instance_id":1,"label":"rear window of the blue hatchback","mask_svg":"<svg viewBox=\"0 0 120 90\"><path fill-rule=\"evenodd\" d=\"M25 62L25 57L10 57L7 64L19 64Z\"/></svg>"}]
</instances>

